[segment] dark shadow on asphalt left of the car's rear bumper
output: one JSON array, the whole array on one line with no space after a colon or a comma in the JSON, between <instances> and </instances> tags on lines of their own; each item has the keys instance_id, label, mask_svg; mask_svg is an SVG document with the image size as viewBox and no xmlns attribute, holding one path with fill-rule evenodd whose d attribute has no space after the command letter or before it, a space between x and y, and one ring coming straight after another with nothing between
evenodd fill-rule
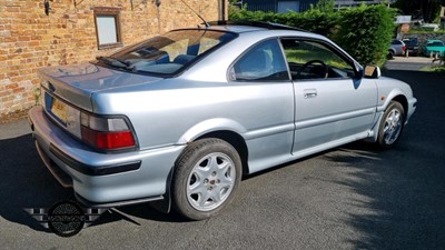
<instances>
[{"instance_id":1,"label":"dark shadow on asphalt left of the car's rear bumper","mask_svg":"<svg viewBox=\"0 0 445 250\"><path fill-rule=\"evenodd\" d=\"M30 134L0 140L0 216L9 221L44 230L24 208L49 208L73 199L58 187L37 154Z\"/></svg>"}]
</instances>

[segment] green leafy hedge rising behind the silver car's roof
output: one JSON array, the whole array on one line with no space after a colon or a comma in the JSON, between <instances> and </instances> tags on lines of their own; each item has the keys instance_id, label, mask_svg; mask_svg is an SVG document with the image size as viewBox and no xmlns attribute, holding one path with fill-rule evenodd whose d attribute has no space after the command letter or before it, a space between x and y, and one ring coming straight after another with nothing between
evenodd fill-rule
<instances>
[{"instance_id":1,"label":"green leafy hedge rising behind the silver car's roof","mask_svg":"<svg viewBox=\"0 0 445 250\"><path fill-rule=\"evenodd\" d=\"M248 11L241 8L231 9L229 19L276 22L320 33L336 41L360 63L382 66L395 29L395 9L383 4L346 8L337 12L312 8L301 13Z\"/></svg>"}]
</instances>

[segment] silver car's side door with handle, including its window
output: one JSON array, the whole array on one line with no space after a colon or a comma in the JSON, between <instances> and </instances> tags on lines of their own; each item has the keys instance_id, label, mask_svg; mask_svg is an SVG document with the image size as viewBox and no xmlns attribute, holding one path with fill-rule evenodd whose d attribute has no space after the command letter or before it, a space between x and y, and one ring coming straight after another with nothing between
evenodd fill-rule
<instances>
[{"instance_id":1,"label":"silver car's side door with handle, including its window","mask_svg":"<svg viewBox=\"0 0 445 250\"><path fill-rule=\"evenodd\" d=\"M326 41L281 39L295 93L293 152L319 151L366 137L377 88L356 76L354 62Z\"/></svg>"}]
</instances>

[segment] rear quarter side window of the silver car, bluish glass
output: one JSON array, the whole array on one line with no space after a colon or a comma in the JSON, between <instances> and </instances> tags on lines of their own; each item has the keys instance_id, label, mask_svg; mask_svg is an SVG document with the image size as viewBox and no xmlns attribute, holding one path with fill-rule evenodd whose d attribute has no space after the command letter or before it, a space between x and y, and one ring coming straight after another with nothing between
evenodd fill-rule
<instances>
[{"instance_id":1,"label":"rear quarter side window of the silver car, bluish glass","mask_svg":"<svg viewBox=\"0 0 445 250\"><path fill-rule=\"evenodd\" d=\"M277 40L268 40L251 48L230 69L233 81L289 80L286 62Z\"/></svg>"}]
</instances>

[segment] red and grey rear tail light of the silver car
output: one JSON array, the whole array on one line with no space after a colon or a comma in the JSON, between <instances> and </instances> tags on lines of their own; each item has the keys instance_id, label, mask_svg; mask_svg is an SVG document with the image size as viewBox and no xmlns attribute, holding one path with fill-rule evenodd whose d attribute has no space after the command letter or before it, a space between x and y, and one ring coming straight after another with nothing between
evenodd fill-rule
<instances>
[{"instance_id":1,"label":"red and grey rear tail light of the silver car","mask_svg":"<svg viewBox=\"0 0 445 250\"><path fill-rule=\"evenodd\" d=\"M98 149L135 148L134 133L123 118L102 118L81 113L82 141Z\"/></svg>"}]
</instances>

